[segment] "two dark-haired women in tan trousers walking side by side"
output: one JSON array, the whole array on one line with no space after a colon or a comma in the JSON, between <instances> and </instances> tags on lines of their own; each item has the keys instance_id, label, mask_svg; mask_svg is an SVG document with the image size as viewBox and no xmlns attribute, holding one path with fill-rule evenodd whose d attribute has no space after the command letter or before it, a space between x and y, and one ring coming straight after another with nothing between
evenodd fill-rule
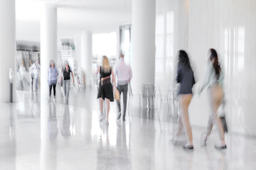
<instances>
[{"instance_id":1,"label":"two dark-haired women in tan trousers walking side by side","mask_svg":"<svg viewBox=\"0 0 256 170\"><path fill-rule=\"evenodd\" d=\"M203 78L203 84L198 91L199 94L203 89L208 86L208 92L210 94L210 106L211 114L208 120L208 126L206 132L201 136L202 145L206 145L206 141L210 135L213 128L213 123L217 125L218 133L220 135L220 145L216 145L216 149L226 149L227 145L225 143L225 136L223 125L220 118L218 117L218 107L223 101L223 70L220 67L218 61L218 54L216 50L209 50L209 60L205 70L205 75ZM181 135L181 130L185 129L188 143L183 146L184 149L193 149L193 136L191 131L191 125L188 118L188 106L191 103L193 97L192 88L196 84L193 69L188 59L188 55L184 50L178 52L178 71L177 71L177 83L180 84L178 90L178 101L181 108L181 118L178 125L178 130L176 132L176 137L172 140L174 143L178 142L178 137Z\"/></svg>"}]
</instances>

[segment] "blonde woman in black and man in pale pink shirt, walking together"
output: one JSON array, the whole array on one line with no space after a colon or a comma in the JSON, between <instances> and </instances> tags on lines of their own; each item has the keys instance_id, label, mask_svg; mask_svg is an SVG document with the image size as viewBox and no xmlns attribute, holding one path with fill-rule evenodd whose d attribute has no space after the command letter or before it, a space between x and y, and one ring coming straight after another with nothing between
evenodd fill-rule
<instances>
[{"instance_id":1,"label":"blonde woman in black and man in pale pink shirt, walking together","mask_svg":"<svg viewBox=\"0 0 256 170\"><path fill-rule=\"evenodd\" d=\"M100 98L100 122L102 121L102 115L103 115L103 101L106 103L107 108L107 125L108 117L110 113L110 101L114 101L114 93L119 93L119 95L122 94L123 96L123 115L121 113L121 104L120 101L117 100L117 108L118 108L118 115L117 120L120 120L122 115L122 121L125 121L125 113L126 113L126 107L127 107L127 92L128 92L128 84L129 81L132 79L132 69L129 67L128 64L124 62L124 55L120 55L119 61L114 66L114 71L110 67L110 62L108 61L106 56L103 56L102 59L102 67L98 67L97 73L100 73L100 84L99 84L99 91L97 98ZM111 77L112 82L111 83ZM117 84L116 79L117 78Z\"/></svg>"}]
</instances>

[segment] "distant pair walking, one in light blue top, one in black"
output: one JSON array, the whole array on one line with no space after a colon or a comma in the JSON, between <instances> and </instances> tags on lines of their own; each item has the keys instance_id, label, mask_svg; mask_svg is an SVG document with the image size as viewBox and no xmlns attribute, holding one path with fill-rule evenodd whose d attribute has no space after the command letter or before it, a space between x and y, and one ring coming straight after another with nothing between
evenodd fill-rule
<instances>
[{"instance_id":1,"label":"distant pair walking, one in light blue top, one in black","mask_svg":"<svg viewBox=\"0 0 256 170\"><path fill-rule=\"evenodd\" d=\"M68 104L68 96L70 91L70 74L73 78L73 83L75 83L74 75L68 62L65 62L65 67L62 69L63 76L60 77L60 85L63 86L64 95L65 95L65 103ZM53 60L50 61L50 67L48 71L48 85L49 85L49 100L51 96L51 91L53 89L53 101L55 102L56 95L56 84L58 80L58 69L55 67L55 62Z\"/></svg>"}]
</instances>

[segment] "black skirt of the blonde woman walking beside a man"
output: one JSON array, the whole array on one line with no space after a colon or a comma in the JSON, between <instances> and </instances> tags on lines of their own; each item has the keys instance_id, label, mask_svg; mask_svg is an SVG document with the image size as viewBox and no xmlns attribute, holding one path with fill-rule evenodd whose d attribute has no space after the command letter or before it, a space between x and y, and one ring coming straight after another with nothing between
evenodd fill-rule
<instances>
[{"instance_id":1,"label":"black skirt of the blonde woman walking beside a man","mask_svg":"<svg viewBox=\"0 0 256 170\"><path fill-rule=\"evenodd\" d=\"M97 98L102 98L103 100L107 98L107 99L110 99L110 101L114 101L112 84L108 83L108 84L104 84L103 86L101 86L100 84Z\"/></svg>"}]
</instances>

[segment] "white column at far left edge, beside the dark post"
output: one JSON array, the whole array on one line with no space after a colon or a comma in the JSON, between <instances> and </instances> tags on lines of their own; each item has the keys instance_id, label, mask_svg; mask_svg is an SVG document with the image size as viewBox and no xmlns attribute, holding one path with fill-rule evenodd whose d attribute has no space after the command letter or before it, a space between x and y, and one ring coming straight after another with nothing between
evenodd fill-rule
<instances>
[{"instance_id":1,"label":"white column at far left edge, beside the dark post","mask_svg":"<svg viewBox=\"0 0 256 170\"><path fill-rule=\"evenodd\" d=\"M16 20L15 0L0 1L0 100L11 101L9 69L14 74L13 100L16 94Z\"/></svg>"}]
</instances>

